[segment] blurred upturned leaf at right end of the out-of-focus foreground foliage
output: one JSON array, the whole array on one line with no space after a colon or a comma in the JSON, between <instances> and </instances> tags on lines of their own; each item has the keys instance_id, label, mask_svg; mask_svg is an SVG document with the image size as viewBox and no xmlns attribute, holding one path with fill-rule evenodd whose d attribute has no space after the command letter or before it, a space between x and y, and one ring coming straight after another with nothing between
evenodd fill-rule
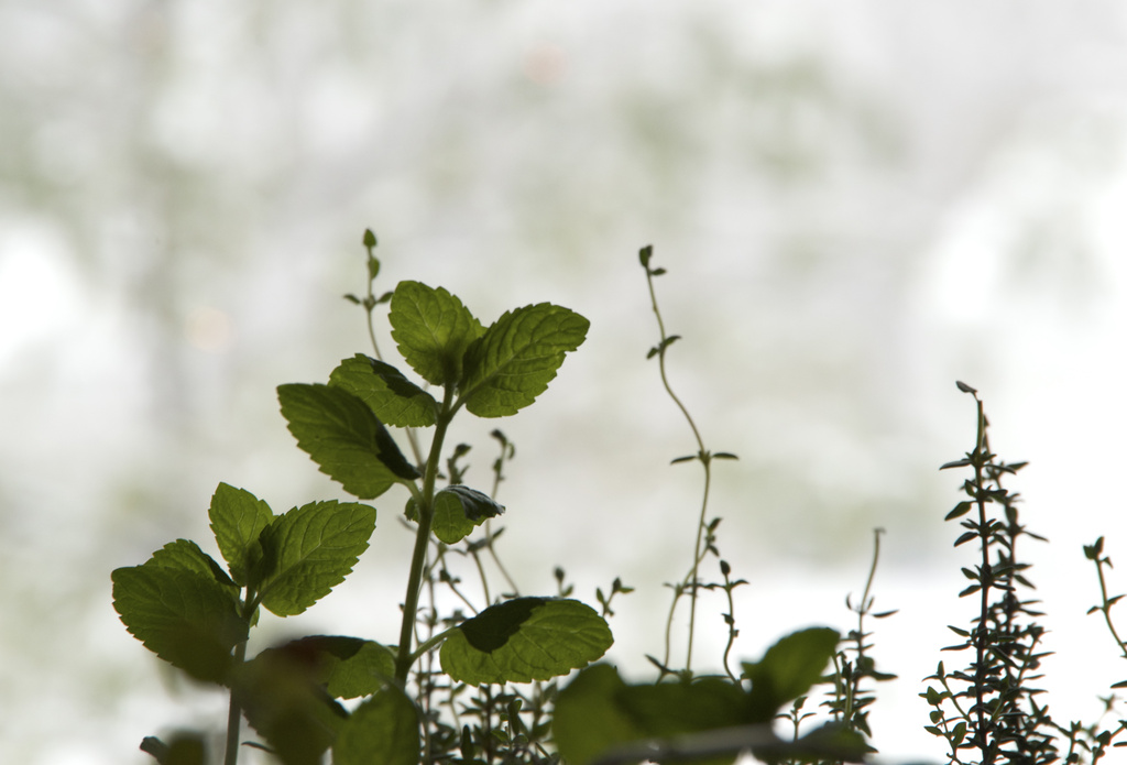
<instances>
[{"instance_id":1,"label":"blurred upturned leaf at right end of the out-of-focus foreground foliage","mask_svg":"<svg viewBox=\"0 0 1127 765\"><path fill-rule=\"evenodd\" d=\"M742 677L752 682L753 722L767 722L789 701L806 694L822 679L841 635L816 626L781 638L763 658L744 662Z\"/></svg>"}]
</instances>

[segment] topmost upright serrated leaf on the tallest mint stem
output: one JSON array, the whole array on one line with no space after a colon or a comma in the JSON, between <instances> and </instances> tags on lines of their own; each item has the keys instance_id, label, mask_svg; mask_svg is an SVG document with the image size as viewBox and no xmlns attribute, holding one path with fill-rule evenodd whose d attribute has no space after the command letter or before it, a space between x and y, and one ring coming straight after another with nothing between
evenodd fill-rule
<instances>
[{"instance_id":1,"label":"topmost upright serrated leaf on the tallest mint stem","mask_svg":"<svg viewBox=\"0 0 1127 765\"><path fill-rule=\"evenodd\" d=\"M458 382L465 349L483 331L456 296L419 282L396 286L388 321L403 361L433 385Z\"/></svg>"}]
</instances>

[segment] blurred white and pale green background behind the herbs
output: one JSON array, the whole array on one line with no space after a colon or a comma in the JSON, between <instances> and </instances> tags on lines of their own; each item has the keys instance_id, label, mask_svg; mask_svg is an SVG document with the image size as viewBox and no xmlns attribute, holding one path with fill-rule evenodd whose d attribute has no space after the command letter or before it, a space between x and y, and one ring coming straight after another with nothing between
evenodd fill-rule
<instances>
[{"instance_id":1,"label":"blurred white and pale green background behind the herbs","mask_svg":"<svg viewBox=\"0 0 1127 765\"><path fill-rule=\"evenodd\" d=\"M340 496L274 386L367 349L340 299L366 226L378 288L592 320L534 407L454 437L481 486L486 434L516 444L500 546L527 591L557 563L587 601L638 588L628 674L660 652L700 487L645 359L653 243L674 384L740 457L711 506L751 581L735 653L852 626L886 528L876 744L940 759L916 694L970 615L942 522L961 477L937 472L973 446L960 379L1032 463L1050 708L1091 719L1127 677L1081 552L1127 550L1125 151L1113 0L0 0L0 760L143 763L143 736L220 724L122 628L109 572L208 542L219 481L276 512ZM373 502L354 580L267 633L393 641L402 499Z\"/></svg>"}]
</instances>

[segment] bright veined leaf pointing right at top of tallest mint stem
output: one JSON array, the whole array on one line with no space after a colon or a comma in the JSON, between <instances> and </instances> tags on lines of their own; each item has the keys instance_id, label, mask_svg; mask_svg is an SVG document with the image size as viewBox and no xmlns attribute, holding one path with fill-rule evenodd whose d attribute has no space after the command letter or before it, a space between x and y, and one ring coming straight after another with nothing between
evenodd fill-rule
<instances>
[{"instance_id":1,"label":"bright veined leaf pointing right at top of tallest mint stem","mask_svg":"<svg viewBox=\"0 0 1127 765\"><path fill-rule=\"evenodd\" d=\"M566 308L540 303L498 319L465 354L460 402L478 417L506 417L548 389L564 355L591 322Z\"/></svg>"}]
</instances>

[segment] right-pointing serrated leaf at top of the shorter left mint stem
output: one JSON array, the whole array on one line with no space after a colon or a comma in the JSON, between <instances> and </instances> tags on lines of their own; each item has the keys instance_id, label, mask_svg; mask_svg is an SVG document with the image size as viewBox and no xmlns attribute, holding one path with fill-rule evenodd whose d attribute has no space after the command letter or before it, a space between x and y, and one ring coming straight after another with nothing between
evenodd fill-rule
<instances>
[{"instance_id":1,"label":"right-pointing serrated leaf at top of the shorter left mint stem","mask_svg":"<svg viewBox=\"0 0 1127 765\"><path fill-rule=\"evenodd\" d=\"M344 581L375 531L375 508L335 499L277 516L260 541L261 604L278 616L300 614Z\"/></svg>"}]
</instances>

